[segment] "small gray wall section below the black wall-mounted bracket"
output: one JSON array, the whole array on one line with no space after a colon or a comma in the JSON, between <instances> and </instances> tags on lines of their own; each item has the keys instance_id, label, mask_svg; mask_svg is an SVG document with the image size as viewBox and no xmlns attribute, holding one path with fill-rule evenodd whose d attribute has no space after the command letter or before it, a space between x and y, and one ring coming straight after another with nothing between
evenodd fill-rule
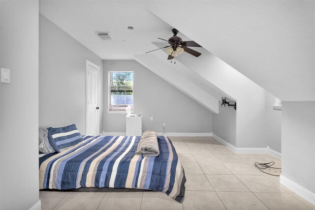
<instances>
[{"instance_id":1,"label":"small gray wall section below the black wall-mounted bracket","mask_svg":"<svg viewBox=\"0 0 315 210\"><path fill-rule=\"evenodd\" d=\"M236 111L233 107L221 107L219 101L219 114L212 115L213 133L221 139L236 145Z\"/></svg>"}]
</instances>

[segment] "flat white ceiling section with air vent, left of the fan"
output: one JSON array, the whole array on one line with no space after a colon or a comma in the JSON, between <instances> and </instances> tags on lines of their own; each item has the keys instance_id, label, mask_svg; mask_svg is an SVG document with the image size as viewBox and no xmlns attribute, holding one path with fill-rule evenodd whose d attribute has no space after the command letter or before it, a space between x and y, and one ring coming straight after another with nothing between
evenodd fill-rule
<instances>
[{"instance_id":1,"label":"flat white ceiling section with air vent, left of the fan","mask_svg":"<svg viewBox=\"0 0 315 210\"><path fill-rule=\"evenodd\" d=\"M40 13L103 60L134 59L154 50L151 42L160 41L158 37L173 35L145 1L41 0ZM109 31L114 39L102 40L95 31Z\"/></svg>"}]
</instances>

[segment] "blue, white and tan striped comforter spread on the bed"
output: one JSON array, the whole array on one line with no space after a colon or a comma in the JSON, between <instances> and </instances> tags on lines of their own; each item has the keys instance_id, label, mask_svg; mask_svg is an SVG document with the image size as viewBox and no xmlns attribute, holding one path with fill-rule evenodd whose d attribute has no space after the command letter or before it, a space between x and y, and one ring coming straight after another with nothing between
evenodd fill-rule
<instances>
[{"instance_id":1,"label":"blue, white and tan striped comforter spread on the bed","mask_svg":"<svg viewBox=\"0 0 315 210\"><path fill-rule=\"evenodd\" d=\"M158 136L156 157L135 154L139 141L138 136L86 136L67 150L46 154L39 158L39 188L140 188L182 203L186 178L171 141Z\"/></svg>"}]
</instances>

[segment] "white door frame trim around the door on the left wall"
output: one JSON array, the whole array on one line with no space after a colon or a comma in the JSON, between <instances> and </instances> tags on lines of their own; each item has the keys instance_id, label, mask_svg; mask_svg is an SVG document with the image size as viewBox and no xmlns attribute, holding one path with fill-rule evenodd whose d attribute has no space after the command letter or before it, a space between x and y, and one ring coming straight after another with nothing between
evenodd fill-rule
<instances>
[{"instance_id":1,"label":"white door frame trim around the door on the left wall","mask_svg":"<svg viewBox=\"0 0 315 210\"><path fill-rule=\"evenodd\" d=\"M88 131L88 66L92 66L97 70L97 107L99 104L99 71L100 67L95 63L91 62L90 60L86 59L86 66L85 66L85 133L87 134ZM97 117L97 128L96 132L99 135L99 109L96 110L96 117Z\"/></svg>"}]
</instances>

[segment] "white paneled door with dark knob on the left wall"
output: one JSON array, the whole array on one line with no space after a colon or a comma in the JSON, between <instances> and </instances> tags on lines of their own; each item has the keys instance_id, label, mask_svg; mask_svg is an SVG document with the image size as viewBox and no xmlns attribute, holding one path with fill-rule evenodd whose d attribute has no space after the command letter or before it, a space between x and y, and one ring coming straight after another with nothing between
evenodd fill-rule
<instances>
[{"instance_id":1,"label":"white paneled door with dark knob on the left wall","mask_svg":"<svg viewBox=\"0 0 315 210\"><path fill-rule=\"evenodd\" d=\"M86 135L99 134L98 120L98 71L99 66L91 61L86 61Z\"/></svg>"}]
</instances>

